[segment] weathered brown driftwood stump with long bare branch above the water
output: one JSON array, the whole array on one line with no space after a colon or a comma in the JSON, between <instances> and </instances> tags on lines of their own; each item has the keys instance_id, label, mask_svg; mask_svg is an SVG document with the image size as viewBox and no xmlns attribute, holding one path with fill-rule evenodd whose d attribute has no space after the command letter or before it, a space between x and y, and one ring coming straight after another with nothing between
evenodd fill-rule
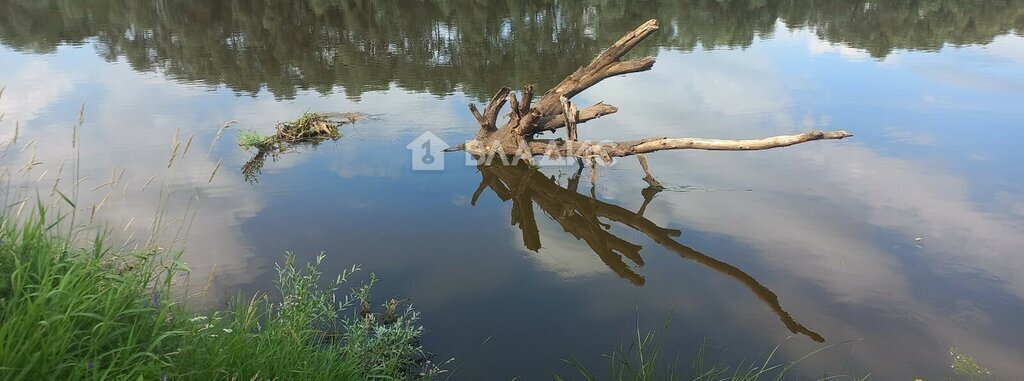
<instances>
[{"instance_id":1,"label":"weathered brown driftwood stump with long bare branch above the water","mask_svg":"<svg viewBox=\"0 0 1024 381\"><path fill-rule=\"evenodd\" d=\"M617 42L594 58L590 65L580 68L548 90L534 102L534 88L525 86L517 96L508 87L503 87L490 98L481 113L476 104L470 103L470 112L480 125L473 140L459 149L477 156L505 155L519 156L527 160L532 156L575 157L609 161L614 157L628 157L667 150L710 150L710 151L752 151L768 150L799 144L820 139L842 139L853 136L846 131L810 131L798 135L767 137L763 139L728 140L701 138L656 137L621 142L577 142L580 124L595 118L617 112L611 104L597 104L578 110L569 99L575 94L601 82L623 74L643 72L654 66L654 58L622 60L623 55L632 50L647 36L657 31L657 20L644 23L627 33ZM509 121L498 127L498 117L506 103L511 105ZM566 139L538 139L539 133L555 131L566 127ZM649 173L648 173L648 177ZM651 177L653 180L653 177Z\"/></svg>"}]
</instances>

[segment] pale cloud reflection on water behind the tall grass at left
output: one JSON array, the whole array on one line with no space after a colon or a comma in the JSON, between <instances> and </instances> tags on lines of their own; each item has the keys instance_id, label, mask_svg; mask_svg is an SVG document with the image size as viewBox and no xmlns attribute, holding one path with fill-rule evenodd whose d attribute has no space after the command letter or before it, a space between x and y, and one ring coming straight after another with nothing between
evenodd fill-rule
<instances>
[{"instance_id":1,"label":"pale cloud reflection on water behind the tall grass at left","mask_svg":"<svg viewBox=\"0 0 1024 381\"><path fill-rule=\"evenodd\" d=\"M69 49L74 48L61 51ZM254 215L261 202L256 194L236 183L240 181L238 176L221 173L208 183L218 159L207 155L207 150L219 122L212 122L209 114L197 115L194 111L204 109L197 104L216 102L215 93L194 91L139 74L126 65L101 62L91 52L84 61L75 62L54 58L62 57L63 52L55 56L0 54L0 61L18 62L23 68L5 71L14 74L14 81L0 100L0 108L13 112L2 122L2 137L6 142L12 130L7 127L18 121L18 144L37 141L35 152L12 150L3 164L17 168L33 155L42 163L29 174L15 175L14 181L38 186L45 197L59 176L60 189L71 193L76 157L71 144L72 126L78 119L78 105L84 103L85 123L77 131L83 178L83 190L77 200L79 221L98 207L95 221L108 226L119 245L131 240L131 248L145 242L154 216L162 208L164 216L157 223L162 230L162 246L181 247L179 231L187 229L184 259L197 277L205 279L216 263L217 285L229 286L247 279L249 251L233 226ZM66 66L85 70L61 69ZM73 80L72 74L79 78ZM62 100L75 103L75 108L65 107ZM176 130L178 155L168 168ZM181 156L193 133L189 151ZM231 140L225 136L218 144L231 144ZM65 166L58 173L60 163ZM105 184L112 172L118 177L113 186ZM145 186L151 177L152 183ZM195 211L198 213L193 216L189 212Z\"/></svg>"}]
</instances>

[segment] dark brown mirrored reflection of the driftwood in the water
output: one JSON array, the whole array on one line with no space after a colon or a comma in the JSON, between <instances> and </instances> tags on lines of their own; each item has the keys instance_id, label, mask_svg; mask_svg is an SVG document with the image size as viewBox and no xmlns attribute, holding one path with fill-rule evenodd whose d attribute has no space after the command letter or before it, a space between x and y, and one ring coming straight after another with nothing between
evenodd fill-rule
<instances>
[{"instance_id":1,"label":"dark brown mirrored reflection of the driftwood in the water","mask_svg":"<svg viewBox=\"0 0 1024 381\"><path fill-rule=\"evenodd\" d=\"M534 204L558 222L566 232L578 240L583 240L594 253L616 274L634 285L643 285L644 278L636 272L623 257L636 266L643 266L640 256L642 247L623 240L609 231L610 224L601 219L618 222L650 238L662 247L675 252L684 259L697 262L708 268L721 272L746 286L765 304L771 307L782 324L795 334L807 335L817 342L823 342L821 335L797 323L788 312L782 309L778 296L764 287L753 277L739 268L693 249L683 246L673 240L681 231L660 227L643 216L644 210L660 190L659 186L650 186L642 192L644 202L638 212L632 212L617 205L597 200L593 195L587 197L577 192L580 183L580 171L568 180L568 186L560 186L554 177L548 177L524 163L519 165L481 165L478 167L482 175L480 186L473 194L472 204L490 188L502 201L512 200L512 224L522 231L523 244L532 251L541 249L540 229L534 215Z\"/></svg>"}]
</instances>

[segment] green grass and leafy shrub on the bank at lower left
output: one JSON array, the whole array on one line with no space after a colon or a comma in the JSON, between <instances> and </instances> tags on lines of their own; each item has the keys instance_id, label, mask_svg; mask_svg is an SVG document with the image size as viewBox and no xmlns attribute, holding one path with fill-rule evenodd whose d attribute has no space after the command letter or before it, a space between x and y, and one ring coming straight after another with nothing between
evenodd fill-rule
<instances>
[{"instance_id":1,"label":"green grass and leafy shrub on the bank at lower left","mask_svg":"<svg viewBox=\"0 0 1024 381\"><path fill-rule=\"evenodd\" d=\"M102 237L77 247L41 205L0 217L0 379L430 378L417 369L412 307L371 308L376 278L336 299L352 267L321 286L315 263L289 255L279 294L197 311L175 300L184 267L156 252L115 253ZM81 230L78 230L81 231Z\"/></svg>"}]
</instances>

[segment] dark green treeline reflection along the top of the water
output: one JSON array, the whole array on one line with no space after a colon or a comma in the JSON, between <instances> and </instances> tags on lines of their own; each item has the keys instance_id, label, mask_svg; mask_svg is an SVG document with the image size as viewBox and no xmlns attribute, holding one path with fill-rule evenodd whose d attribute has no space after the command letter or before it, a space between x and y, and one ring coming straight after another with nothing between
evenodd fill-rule
<instances>
[{"instance_id":1,"label":"dark green treeline reflection along the top of the water","mask_svg":"<svg viewBox=\"0 0 1024 381\"><path fill-rule=\"evenodd\" d=\"M484 98L504 85L546 89L650 17L663 30L639 54L745 47L781 23L884 57L1021 33L1024 0L0 0L0 43L93 43L135 70L240 93L396 84Z\"/></svg>"}]
</instances>

